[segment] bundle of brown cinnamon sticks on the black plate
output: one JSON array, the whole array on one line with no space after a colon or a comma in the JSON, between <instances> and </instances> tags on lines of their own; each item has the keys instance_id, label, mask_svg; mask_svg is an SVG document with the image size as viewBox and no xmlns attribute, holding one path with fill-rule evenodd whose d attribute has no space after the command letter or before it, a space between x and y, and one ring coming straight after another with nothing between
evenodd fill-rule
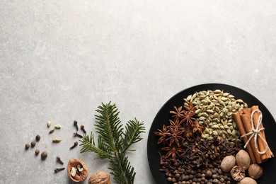
<instances>
[{"instance_id":1,"label":"bundle of brown cinnamon sticks on the black plate","mask_svg":"<svg viewBox=\"0 0 276 184\"><path fill-rule=\"evenodd\" d=\"M258 126L258 120L259 120L259 115L260 113L254 113L253 114L253 126L251 123L251 113L254 110L258 110L258 105L255 105L251 108L244 108L243 110L233 113L234 120L236 121L236 124L238 126L238 130L241 133L241 136L244 134L248 134L249 132L252 132L252 128L257 129ZM260 124L259 130L263 128L263 123ZM258 149L259 152L265 151L264 154L259 154L257 151L257 148L255 147L255 142L254 139L251 139L250 142L248 142L248 139L250 136L244 136L242 137L244 144L248 142L248 145L246 146L246 151L248 152L251 162L252 163L263 163L264 161L267 161L268 159L274 157L272 151L270 150L270 147L268 144L266 144L266 139L265 139L265 131L262 130L259 132L260 136L263 137L261 139L259 136L257 138L257 144L258 144Z\"/></svg>"}]
</instances>

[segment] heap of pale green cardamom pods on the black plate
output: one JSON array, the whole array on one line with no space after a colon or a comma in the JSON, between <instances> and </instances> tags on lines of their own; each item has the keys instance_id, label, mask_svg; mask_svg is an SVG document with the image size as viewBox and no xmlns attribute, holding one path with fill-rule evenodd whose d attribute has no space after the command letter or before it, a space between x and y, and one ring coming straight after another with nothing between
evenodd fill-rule
<instances>
[{"instance_id":1,"label":"heap of pale green cardamom pods on the black plate","mask_svg":"<svg viewBox=\"0 0 276 184\"><path fill-rule=\"evenodd\" d=\"M192 110L195 111L199 124L206 127L202 133L203 138L212 139L213 136L227 140L240 138L232 113L247 108L248 105L243 100L236 100L230 93L217 89L199 91L184 98L184 108L190 109L190 104L193 105Z\"/></svg>"}]
</instances>

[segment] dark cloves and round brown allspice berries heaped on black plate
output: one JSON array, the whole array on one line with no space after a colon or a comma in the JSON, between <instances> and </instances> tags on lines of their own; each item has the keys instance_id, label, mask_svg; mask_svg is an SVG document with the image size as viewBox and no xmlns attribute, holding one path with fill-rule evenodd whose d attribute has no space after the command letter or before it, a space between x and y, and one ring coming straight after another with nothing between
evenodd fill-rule
<instances>
[{"instance_id":1,"label":"dark cloves and round brown allspice berries heaped on black plate","mask_svg":"<svg viewBox=\"0 0 276 184\"><path fill-rule=\"evenodd\" d=\"M165 148L163 148L165 149ZM168 153L173 154L173 149L167 147ZM161 155L161 169L166 173L169 183L183 181L205 183L234 183L229 172L222 171L222 159L228 155L235 155L242 149L240 142L226 142L225 139L202 139L200 134L193 134L191 139L185 139L181 151L175 153L175 159ZM171 151L171 152L170 152ZM170 156L171 156L170 155Z\"/></svg>"}]
</instances>

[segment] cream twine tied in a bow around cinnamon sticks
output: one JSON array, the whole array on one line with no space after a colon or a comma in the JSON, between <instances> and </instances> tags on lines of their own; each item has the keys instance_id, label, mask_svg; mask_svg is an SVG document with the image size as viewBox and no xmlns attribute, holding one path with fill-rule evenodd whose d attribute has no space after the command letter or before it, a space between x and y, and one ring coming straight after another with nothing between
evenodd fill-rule
<instances>
[{"instance_id":1,"label":"cream twine tied in a bow around cinnamon sticks","mask_svg":"<svg viewBox=\"0 0 276 184\"><path fill-rule=\"evenodd\" d=\"M254 122L253 122L253 116L254 116L254 113L260 113L259 116L258 116L258 124L257 124L257 127L255 128L254 126ZM246 149L246 146L248 146L248 144L250 143L251 139L254 138L254 144L255 144L255 149L256 151L258 152L258 154L265 154L266 151L268 151L268 142L265 141L265 139L263 139L263 137L259 134L260 131L263 131L265 130L264 127L260 128L260 125L262 124L262 119L263 119L263 113L256 109L256 110L253 110L253 112L251 113L251 126L252 126L252 132L249 132L247 134L243 134L241 136L241 138L243 137L247 137L250 135L248 141L246 142L246 144L244 145L244 148ZM262 141L265 143L265 150L264 151L260 151L259 149L259 146L258 146L258 142L257 142L257 139L258 137L260 137L260 139L262 139Z\"/></svg>"}]
</instances>

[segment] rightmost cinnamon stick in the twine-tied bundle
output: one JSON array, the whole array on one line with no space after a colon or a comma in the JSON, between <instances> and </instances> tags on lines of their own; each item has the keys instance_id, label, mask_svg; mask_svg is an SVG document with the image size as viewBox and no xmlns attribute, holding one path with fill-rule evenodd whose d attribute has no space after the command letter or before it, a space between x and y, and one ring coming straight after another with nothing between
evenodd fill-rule
<instances>
[{"instance_id":1,"label":"rightmost cinnamon stick in the twine-tied bundle","mask_svg":"<svg viewBox=\"0 0 276 184\"><path fill-rule=\"evenodd\" d=\"M259 109L258 105L255 105L255 106L252 106L251 107L251 113L254 111L254 110L257 110ZM258 126L258 117L259 117L260 113L254 113L253 115L253 122L254 122L254 127L257 128ZM263 122L260 124L260 129L263 128ZM263 137L263 139L265 139L265 131L260 131L260 136ZM266 139L265 139L266 141ZM263 152L265 151L265 142L263 142L262 139L260 139L258 137L257 139L257 142L258 142L258 147L260 149L260 152ZM270 147L268 146L268 151L265 152L265 154L262 154L261 155L261 159L262 161L266 161L267 159L270 159L271 157L273 157L274 155L272 154L272 151L270 150Z\"/></svg>"}]
</instances>

